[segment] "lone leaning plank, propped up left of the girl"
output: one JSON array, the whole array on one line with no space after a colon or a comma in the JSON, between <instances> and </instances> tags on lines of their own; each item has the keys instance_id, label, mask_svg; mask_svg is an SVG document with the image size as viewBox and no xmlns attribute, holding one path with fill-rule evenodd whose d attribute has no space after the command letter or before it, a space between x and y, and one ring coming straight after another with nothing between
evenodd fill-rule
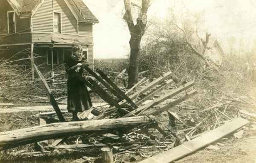
<instances>
[{"instance_id":1,"label":"lone leaning plank, propped up left of the girl","mask_svg":"<svg viewBox=\"0 0 256 163\"><path fill-rule=\"evenodd\" d=\"M38 67L34 64L34 69L35 69L35 72L36 74L38 75L38 77L40 78L40 81L42 83L42 85L44 86L44 89L46 90L47 92L47 95L48 95L48 98L50 100L50 103L52 104L52 107L53 109L55 110L57 116L58 116L58 119L61 121L61 122L65 122L65 119L63 117L63 115L61 114L61 110L60 108L58 107L58 103L56 102L46 80L44 79L44 76L41 74L41 72L39 71Z\"/></svg>"}]
</instances>

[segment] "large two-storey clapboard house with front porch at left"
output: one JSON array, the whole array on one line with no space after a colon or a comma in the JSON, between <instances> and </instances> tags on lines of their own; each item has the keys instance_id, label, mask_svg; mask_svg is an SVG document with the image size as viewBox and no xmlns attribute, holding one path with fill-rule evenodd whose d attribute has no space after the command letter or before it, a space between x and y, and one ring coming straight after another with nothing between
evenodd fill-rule
<instances>
[{"instance_id":1,"label":"large two-storey clapboard house with front porch at left","mask_svg":"<svg viewBox=\"0 0 256 163\"><path fill-rule=\"evenodd\" d=\"M93 24L99 21L82 0L0 0L0 21L0 58L29 49L53 74L64 71L72 47L81 45L93 67Z\"/></svg>"}]
</instances>

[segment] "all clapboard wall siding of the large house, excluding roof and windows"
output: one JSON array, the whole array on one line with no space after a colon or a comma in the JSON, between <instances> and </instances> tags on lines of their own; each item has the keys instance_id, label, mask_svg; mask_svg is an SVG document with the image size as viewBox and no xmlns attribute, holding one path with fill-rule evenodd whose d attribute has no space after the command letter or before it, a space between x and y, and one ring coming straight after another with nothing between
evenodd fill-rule
<instances>
[{"instance_id":1,"label":"all clapboard wall siding of the large house, excluding roof and windows","mask_svg":"<svg viewBox=\"0 0 256 163\"><path fill-rule=\"evenodd\" d=\"M3 26L0 29L1 31L6 30L7 33L7 11L13 11L12 7L9 5L7 0L0 0L0 19L3 22ZM68 35L70 37L76 39L82 39L89 41L93 44L93 24L91 23L81 23L79 22L79 32L77 31L77 20L68 8L67 4L64 0L45 0L42 6L39 7L38 11L32 17L32 29L30 32L30 20L29 18L20 19L20 17L15 15L16 17L16 32L23 31L16 34L10 34L3 36L0 39L0 45L8 45L8 44L25 44L28 45L20 45L20 46L10 46L14 47L30 47L30 43L35 43L42 39L43 37L47 37L49 34L53 33L53 12L61 12L61 34ZM27 31L24 31L27 30ZM79 33L79 35L78 35ZM15 48L16 49L16 48ZM35 48L37 49L37 48ZM44 49L45 50L45 49ZM38 50L39 53L44 53L43 51ZM36 52L36 51L35 51ZM88 62L90 67L93 68L93 45L88 47ZM44 54L45 55L45 54ZM41 61L45 62L45 58L38 59L38 63ZM61 58L62 60L62 58ZM46 69L50 69L49 65L45 65Z\"/></svg>"}]
</instances>

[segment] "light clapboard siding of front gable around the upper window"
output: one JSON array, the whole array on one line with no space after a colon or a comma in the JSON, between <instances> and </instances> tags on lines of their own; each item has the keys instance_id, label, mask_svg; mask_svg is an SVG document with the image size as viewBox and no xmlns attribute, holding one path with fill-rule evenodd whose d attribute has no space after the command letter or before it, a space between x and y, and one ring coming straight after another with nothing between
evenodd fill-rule
<instances>
[{"instance_id":1,"label":"light clapboard siding of front gable around the upper window","mask_svg":"<svg viewBox=\"0 0 256 163\"><path fill-rule=\"evenodd\" d=\"M45 0L33 17L33 31L52 33L53 12L61 12L62 34L77 34L76 17L64 0Z\"/></svg>"}]
</instances>

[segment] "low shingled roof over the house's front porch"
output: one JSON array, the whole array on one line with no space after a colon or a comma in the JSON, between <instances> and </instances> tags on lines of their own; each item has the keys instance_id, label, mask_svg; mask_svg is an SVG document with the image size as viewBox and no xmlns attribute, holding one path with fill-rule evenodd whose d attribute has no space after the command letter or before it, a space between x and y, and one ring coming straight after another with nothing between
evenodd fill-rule
<instances>
[{"instance_id":1,"label":"low shingled roof over the house's front porch","mask_svg":"<svg viewBox=\"0 0 256 163\"><path fill-rule=\"evenodd\" d=\"M46 37L35 41L36 44L59 44L59 45L91 45L89 41L84 41L81 39L76 39L64 34L49 34Z\"/></svg>"}]
</instances>

